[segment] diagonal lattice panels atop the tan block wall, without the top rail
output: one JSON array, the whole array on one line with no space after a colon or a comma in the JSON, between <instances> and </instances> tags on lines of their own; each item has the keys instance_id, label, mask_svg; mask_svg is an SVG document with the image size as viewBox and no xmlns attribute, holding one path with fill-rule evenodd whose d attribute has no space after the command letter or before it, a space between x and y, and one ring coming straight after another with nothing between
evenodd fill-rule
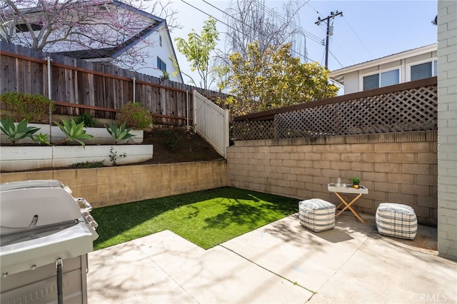
<instances>
[{"instance_id":1,"label":"diagonal lattice panels atop the tan block wall, without the top rail","mask_svg":"<svg viewBox=\"0 0 457 304\"><path fill-rule=\"evenodd\" d=\"M245 121L243 124L248 127L238 135L246 140L265 136L297 138L436 130L437 101L436 85L421 86L278 113L274 116L274 123ZM273 134L269 131L271 126L274 126ZM268 132L259 131L267 128Z\"/></svg>"}]
</instances>

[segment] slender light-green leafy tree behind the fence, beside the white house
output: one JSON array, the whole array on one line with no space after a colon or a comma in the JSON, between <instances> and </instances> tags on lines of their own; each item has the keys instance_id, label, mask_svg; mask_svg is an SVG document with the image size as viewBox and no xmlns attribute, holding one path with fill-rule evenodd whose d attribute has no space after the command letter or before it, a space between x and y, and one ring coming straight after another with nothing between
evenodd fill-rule
<instances>
[{"instance_id":1,"label":"slender light-green leafy tree behind the fence, beside the white house","mask_svg":"<svg viewBox=\"0 0 457 304\"><path fill-rule=\"evenodd\" d=\"M201 78L200 87L207 90L211 86L212 81L214 81L214 77L211 76L219 71L216 61L211 60L211 53L216 49L219 41L216 19L210 16L208 20L204 21L204 26L200 34L197 34L192 29L187 38L187 41L181 37L175 38L176 48L191 63L191 71L197 71L199 73ZM175 64L175 69L176 66ZM181 73L183 72L181 71ZM189 76L189 74L183 74L191 78L191 82L196 85L194 78Z\"/></svg>"}]
</instances>

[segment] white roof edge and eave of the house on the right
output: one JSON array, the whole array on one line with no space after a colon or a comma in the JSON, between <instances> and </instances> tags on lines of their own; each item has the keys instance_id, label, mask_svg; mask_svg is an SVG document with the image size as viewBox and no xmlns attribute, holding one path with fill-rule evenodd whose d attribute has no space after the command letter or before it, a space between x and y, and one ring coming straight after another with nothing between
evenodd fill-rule
<instances>
[{"instance_id":1,"label":"white roof edge and eave of the house on the right","mask_svg":"<svg viewBox=\"0 0 457 304\"><path fill-rule=\"evenodd\" d=\"M400 53L384 56L378 59L373 59L371 61L365 61L361 64L354 64L353 66L347 66L343 69L338 69L335 71L331 71L329 78L333 79L334 81L341 83L344 85L344 75L349 74L354 71L359 71L362 69L371 68L372 66L378 66L381 64L386 64L388 62L396 61L399 59L405 59L408 57L428 53L430 51L436 51L438 49L438 43L436 44L429 44L428 46L421 46L416 49L410 49L408 51L402 51Z\"/></svg>"}]
</instances>

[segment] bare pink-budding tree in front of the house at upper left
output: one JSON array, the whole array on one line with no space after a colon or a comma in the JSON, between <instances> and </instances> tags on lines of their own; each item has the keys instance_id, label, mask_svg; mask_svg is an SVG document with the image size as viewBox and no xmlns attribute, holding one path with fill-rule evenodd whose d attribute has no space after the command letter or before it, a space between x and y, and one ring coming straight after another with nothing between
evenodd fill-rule
<instances>
[{"instance_id":1,"label":"bare pink-budding tree in front of the house at upper left","mask_svg":"<svg viewBox=\"0 0 457 304\"><path fill-rule=\"evenodd\" d=\"M31 49L49 52L97 49L122 45L140 37L141 31L154 24L142 14L126 9L138 1L112 0L3 0L0 7L0 39ZM175 11L168 3L156 0L148 4L153 10L174 22ZM145 9L140 1L134 9ZM176 26L168 25L169 28ZM141 37L140 37L141 39ZM124 56L126 66L144 62L149 56L143 49L130 48Z\"/></svg>"}]
</instances>

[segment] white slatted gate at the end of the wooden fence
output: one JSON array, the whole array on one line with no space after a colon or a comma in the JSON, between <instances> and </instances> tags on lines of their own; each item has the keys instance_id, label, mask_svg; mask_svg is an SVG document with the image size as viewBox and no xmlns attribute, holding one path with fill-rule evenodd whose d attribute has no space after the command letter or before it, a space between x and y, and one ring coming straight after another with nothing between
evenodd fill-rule
<instances>
[{"instance_id":1,"label":"white slatted gate at the end of the wooden fence","mask_svg":"<svg viewBox=\"0 0 457 304\"><path fill-rule=\"evenodd\" d=\"M229 110L194 91L194 128L224 158L229 146Z\"/></svg>"}]
</instances>

